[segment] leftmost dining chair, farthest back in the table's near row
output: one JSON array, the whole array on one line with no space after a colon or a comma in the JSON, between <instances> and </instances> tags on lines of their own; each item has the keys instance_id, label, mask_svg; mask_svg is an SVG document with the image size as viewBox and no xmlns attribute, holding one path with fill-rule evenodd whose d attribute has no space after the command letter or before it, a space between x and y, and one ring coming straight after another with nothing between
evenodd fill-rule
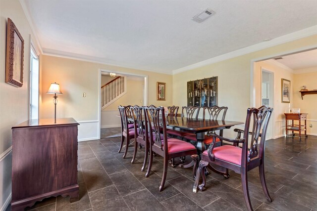
<instances>
[{"instance_id":1,"label":"leftmost dining chair, farthest back in the table's near row","mask_svg":"<svg viewBox=\"0 0 317 211\"><path fill-rule=\"evenodd\" d=\"M120 147L119 147L119 153L122 150L124 139L126 138L126 147L125 147L125 152L123 155L123 158L127 155L129 144L130 144L130 139L134 138L135 136L135 130L134 128L129 128L129 122L128 122L128 113L131 111L131 106L118 106L119 113L120 113L120 118L121 118L121 142L120 142ZM132 115L132 111L130 113Z\"/></svg>"}]
</instances>

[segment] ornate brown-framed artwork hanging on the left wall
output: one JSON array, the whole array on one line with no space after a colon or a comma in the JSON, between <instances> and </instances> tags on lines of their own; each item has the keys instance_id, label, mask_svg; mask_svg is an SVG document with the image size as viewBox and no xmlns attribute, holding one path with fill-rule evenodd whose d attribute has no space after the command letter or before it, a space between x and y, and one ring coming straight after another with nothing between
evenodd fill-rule
<instances>
[{"instance_id":1,"label":"ornate brown-framed artwork hanging on the left wall","mask_svg":"<svg viewBox=\"0 0 317 211\"><path fill-rule=\"evenodd\" d=\"M6 34L5 83L17 87L23 85L24 40L18 29L8 18Z\"/></svg>"}]
</instances>

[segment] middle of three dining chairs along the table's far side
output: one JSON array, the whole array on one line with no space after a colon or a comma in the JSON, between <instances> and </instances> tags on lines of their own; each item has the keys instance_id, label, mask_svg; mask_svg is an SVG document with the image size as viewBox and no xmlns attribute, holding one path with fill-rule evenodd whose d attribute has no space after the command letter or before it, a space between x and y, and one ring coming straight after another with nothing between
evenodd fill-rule
<instances>
[{"instance_id":1,"label":"middle of three dining chairs along the table's far side","mask_svg":"<svg viewBox=\"0 0 317 211\"><path fill-rule=\"evenodd\" d=\"M181 117L186 117L186 118L198 118L200 107L199 106L183 106L182 107L182 116ZM167 130L167 134L172 137L172 138L178 138L178 139L183 139L184 136L190 135L191 133L189 132L183 132L183 131L177 131L177 130Z\"/></svg>"}]
</instances>

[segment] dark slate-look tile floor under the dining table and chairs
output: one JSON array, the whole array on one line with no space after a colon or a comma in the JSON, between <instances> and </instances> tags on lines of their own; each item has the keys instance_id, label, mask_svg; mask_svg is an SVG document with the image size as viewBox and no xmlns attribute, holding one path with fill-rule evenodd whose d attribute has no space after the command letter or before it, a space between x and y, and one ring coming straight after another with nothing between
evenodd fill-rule
<instances>
[{"instance_id":1,"label":"dark slate-look tile floor under the dining table and chairs","mask_svg":"<svg viewBox=\"0 0 317 211\"><path fill-rule=\"evenodd\" d=\"M148 178L141 171L144 150L131 164L133 147L126 159L117 153L120 129L102 129L102 139L78 143L80 200L52 197L37 203L35 211L239 211L246 210L240 175L211 173L207 190L193 193L192 169L169 168L165 189L159 192L162 159L155 157ZM257 169L249 172L254 210L317 210L317 136L301 142L281 137L266 141L266 181L273 202L266 201ZM10 210L8 208L7 210Z\"/></svg>"}]
</instances>

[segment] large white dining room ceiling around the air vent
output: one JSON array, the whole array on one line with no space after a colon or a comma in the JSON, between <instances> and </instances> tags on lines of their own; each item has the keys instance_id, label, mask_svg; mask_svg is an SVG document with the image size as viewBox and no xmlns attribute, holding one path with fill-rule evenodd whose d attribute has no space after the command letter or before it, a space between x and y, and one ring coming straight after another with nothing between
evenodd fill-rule
<instances>
[{"instance_id":1,"label":"large white dining room ceiling around the air vent","mask_svg":"<svg viewBox=\"0 0 317 211\"><path fill-rule=\"evenodd\" d=\"M317 25L317 0L24 4L44 53L165 73ZM215 15L203 23L191 20L207 7Z\"/></svg>"}]
</instances>

